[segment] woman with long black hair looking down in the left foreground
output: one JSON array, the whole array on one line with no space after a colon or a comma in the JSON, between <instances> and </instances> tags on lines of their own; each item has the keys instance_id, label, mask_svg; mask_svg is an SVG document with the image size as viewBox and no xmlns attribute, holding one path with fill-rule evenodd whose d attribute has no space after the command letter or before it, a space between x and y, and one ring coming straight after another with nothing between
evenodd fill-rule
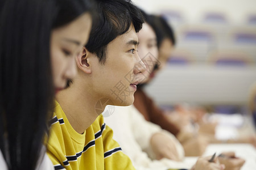
<instances>
[{"instance_id":1,"label":"woman with long black hair looking down in the left foreground","mask_svg":"<svg viewBox=\"0 0 256 170\"><path fill-rule=\"evenodd\" d=\"M8 0L0 10L0 167L53 169L43 139L55 92L76 75L89 0Z\"/></svg>"}]
</instances>

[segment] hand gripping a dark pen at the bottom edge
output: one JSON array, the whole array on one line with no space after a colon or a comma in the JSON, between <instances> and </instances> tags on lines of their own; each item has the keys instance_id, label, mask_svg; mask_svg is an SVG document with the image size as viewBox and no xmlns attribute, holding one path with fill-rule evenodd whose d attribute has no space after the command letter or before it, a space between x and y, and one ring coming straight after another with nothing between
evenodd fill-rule
<instances>
[{"instance_id":1,"label":"hand gripping a dark pen at the bottom edge","mask_svg":"<svg viewBox=\"0 0 256 170\"><path fill-rule=\"evenodd\" d=\"M214 159L214 162L209 162L210 158L212 156L207 156L207 157L201 157L197 160L196 164L193 165L191 170L223 170L225 169L225 165L220 164L218 162L218 159Z\"/></svg>"}]
</instances>

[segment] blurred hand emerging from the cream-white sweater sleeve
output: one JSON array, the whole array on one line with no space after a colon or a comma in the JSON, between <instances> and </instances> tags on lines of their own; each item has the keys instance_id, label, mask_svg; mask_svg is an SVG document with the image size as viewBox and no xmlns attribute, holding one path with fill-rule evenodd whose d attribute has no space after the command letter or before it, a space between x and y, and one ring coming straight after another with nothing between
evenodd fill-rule
<instances>
[{"instance_id":1,"label":"blurred hand emerging from the cream-white sweater sleeve","mask_svg":"<svg viewBox=\"0 0 256 170\"><path fill-rule=\"evenodd\" d=\"M181 161L176 149L175 141L163 133L152 135L150 144L156 155L156 159L167 158L175 161Z\"/></svg>"}]
</instances>

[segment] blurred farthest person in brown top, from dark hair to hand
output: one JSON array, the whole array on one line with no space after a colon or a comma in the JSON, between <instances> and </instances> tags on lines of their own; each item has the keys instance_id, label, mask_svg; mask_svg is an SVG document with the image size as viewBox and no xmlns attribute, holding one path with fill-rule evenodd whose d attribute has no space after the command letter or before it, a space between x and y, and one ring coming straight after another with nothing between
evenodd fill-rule
<instances>
[{"instance_id":1,"label":"blurred farthest person in brown top, from dark hair to hand","mask_svg":"<svg viewBox=\"0 0 256 170\"><path fill-rule=\"evenodd\" d=\"M209 140L201 135L194 135L191 131L188 131L185 126L176 124L176 122L168 118L166 113L143 91L143 87L154 78L158 70L166 65L174 49L174 45L176 44L172 28L161 16L157 16L154 19L152 28L156 32L159 59L155 65L154 71L138 86L138 90L134 94L134 106L143 114L147 121L151 121L159 125L162 129L174 134L183 145L186 156L200 156L208 146ZM183 122L186 122L186 120L190 121L190 119L182 119Z\"/></svg>"}]
</instances>

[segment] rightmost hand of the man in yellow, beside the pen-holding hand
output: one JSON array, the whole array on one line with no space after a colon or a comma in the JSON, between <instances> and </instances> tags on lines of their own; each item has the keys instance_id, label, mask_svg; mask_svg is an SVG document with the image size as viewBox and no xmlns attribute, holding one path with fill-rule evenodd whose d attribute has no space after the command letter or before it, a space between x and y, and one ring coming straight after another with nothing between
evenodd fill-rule
<instances>
[{"instance_id":1,"label":"rightmost hand of the man in yellow, beside the pen-holding hand","mask_svg":"<svg viewBox=\"0 0 256 170\"><path fill-rule=\"evenodd\" d=\"M245 160L237 158L234 152L223 152L221 155L223 156L218 156L218 160L225 165L225 170L239 170L245 163Z\"/></svg>"}]
</instances>

